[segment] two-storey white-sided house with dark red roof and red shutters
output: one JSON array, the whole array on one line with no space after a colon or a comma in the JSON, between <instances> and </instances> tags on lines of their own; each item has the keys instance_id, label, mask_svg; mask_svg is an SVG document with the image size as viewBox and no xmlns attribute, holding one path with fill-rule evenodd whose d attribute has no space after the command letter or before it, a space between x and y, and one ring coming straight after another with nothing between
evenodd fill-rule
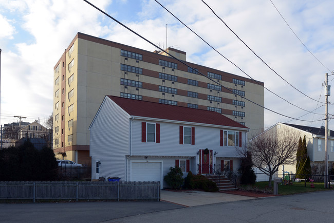
<instances>
[{"instance_id":1,"label":"two-storey white-sided house with dark red roof and red shutters","mask_svg":"<svg viewBox=\"0 0 334 223\"><path fill-rule=\"evenodd\" d=\"M222 166L237 171L248 128L216 112L106 96L89 126L92 179L160 181Z\"/></svg>"}]
</instances>

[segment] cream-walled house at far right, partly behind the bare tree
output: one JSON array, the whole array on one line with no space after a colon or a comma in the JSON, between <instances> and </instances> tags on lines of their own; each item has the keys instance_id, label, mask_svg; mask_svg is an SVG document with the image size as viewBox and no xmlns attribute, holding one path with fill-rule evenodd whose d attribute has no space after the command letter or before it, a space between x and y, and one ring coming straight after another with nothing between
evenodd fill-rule
<instances>
[{"instance_id":1,"label":"cream-walled house at far right, partly behind the bare tree","mask_svg":"<svg viewBox=\"0 0 334 223\"><path fill-rule=\"evenodd\" d=\"M316 128L279 122L268 128L265 132L268 131L290 131L291 133L296 132L302 139L305 136L307 143L307 155L310 157L311 165L324 164L325 128L323 126L320 128ZM328 162L334 162L334 131L331 130L328 131L327 153ZM303 163L301 165L303 165ZM294 163L293 165L280 166L279 172L277 173L279 177L282 177L283 170L284 172L289 172L290 176L293 177L296 171L296 163ZM255 170L255 172L256 171L257 173L259 173L257 175L257 178L262 179L263 177L265 177L261 171Z\"/></svg>"}]
</instances>

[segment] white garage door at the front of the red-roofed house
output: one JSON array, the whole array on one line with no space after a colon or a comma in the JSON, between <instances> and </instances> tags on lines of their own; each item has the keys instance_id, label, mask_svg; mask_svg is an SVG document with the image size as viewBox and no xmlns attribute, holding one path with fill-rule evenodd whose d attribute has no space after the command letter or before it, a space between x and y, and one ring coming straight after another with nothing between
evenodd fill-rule
<instances>
[{"instance_id":1,"label":"white garage door at the front of the red-roofed house","mask_svg":"<svg viewBox=\"0 0 334 223\"><path fill-rule=\"evenodd\" d=\"M131 180L161 181L161 162L132 162Z\"/></svg>"}]
</instances>

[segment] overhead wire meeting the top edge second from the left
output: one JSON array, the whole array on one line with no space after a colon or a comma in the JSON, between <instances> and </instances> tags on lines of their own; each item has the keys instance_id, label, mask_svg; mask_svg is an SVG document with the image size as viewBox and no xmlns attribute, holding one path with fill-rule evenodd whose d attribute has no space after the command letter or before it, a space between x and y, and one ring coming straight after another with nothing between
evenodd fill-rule
<instances>
[{"instance_id":1,"label":"overhead wire meeting the top edge second from the left","mask_svg":"<svg viewBox=\"0 0 334 223\"><path fill-rule=\"evenodd\" d=\"M231 60L229 60L228 58L226 58L224 55L222 55L219 51L217 51L213 46L211 46L206 40L204 40L203 38L201 38L200 35L198 35L195 31L193 31L190 27L188 27L187 25L185 25L181 20L179 20L179 18L177 16L175 16L171 11L169 11L168 9L166 9L163 5L161 5L157 0L155 0L155 2L157 2L162 8L164 8L166 11L168 11L171 15L173 15L180 23L182 23L182 25L184 25L185 27L187 27L191 32L193 32L195 35L198 36L199 39L201 39L203 42L205 42L208 46L210 46L214 51L216 51L219 55L221 55L221 57L223 57L224 59L226 59L228 62L230 62L231 64L233 64L236 68L238 68L240 71L242 71L243 73L245 73L245 75L247 75L250 79L252 79L253 81L255 81L258 85L263 86L266 90L268 90L269 92L271 92L273 95L279 97L280 99L284 100L285 102L289 103L292 106L295 106L301 110L304 110L305 112L309 112L309 110L306 110L304 108L301 108L289 101L287 101L286 99L282 98L281 96L277 95L275 92L271 91L270 89L268 89L267 87L265 87L264 85L262 85L261 83L259 83L258 81L256 81L255 79L253 79L251 76L248 75L248 73L246 73L243 69L241 69L240 67L238 67L236 64L234 64ZM324 114L320 114L320 113L316 113L316 115L324 115Z\"/></svg>"}]
</instances>

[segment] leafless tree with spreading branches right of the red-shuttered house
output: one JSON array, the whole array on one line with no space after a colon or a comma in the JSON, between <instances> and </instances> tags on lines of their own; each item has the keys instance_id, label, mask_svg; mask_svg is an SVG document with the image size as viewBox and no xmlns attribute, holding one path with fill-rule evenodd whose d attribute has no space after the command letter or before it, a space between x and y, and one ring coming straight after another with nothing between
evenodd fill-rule
<instances>
[{"instance_id":1,"label":"leafless tree with spreading branches right of the red-shuttered house","mask_svg":"<svg viewBox=\"0 0 334 223\"><path fill-rule=\"evenodd\" d=\"M256 168L269 176L268 186L271 188L272 176L279 171L280 165L295 163L299 135L292 131L263 132L253 138L248 151Z\"/></svg>"}]
</instances>

